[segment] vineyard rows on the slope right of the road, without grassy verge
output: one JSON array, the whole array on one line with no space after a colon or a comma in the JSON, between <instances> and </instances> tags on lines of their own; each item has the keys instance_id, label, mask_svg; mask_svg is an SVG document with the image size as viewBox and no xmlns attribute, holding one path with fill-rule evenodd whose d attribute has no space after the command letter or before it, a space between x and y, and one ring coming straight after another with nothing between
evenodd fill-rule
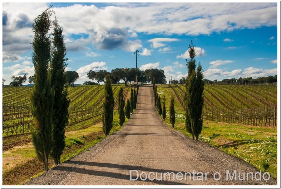
<instances>
[{"instance_id":1,"label":"vineyard rows on the slope right of the road, without grassy verge","mask_svg":"<svg viewBox=\"0 0 281 189\"><path fill-rule=\"evenodd\" d=\"M184 85L170 86L182 108ZM277 125L277 87L206 84L203 119L245 125Z\"/></svg>"}]
</instances>

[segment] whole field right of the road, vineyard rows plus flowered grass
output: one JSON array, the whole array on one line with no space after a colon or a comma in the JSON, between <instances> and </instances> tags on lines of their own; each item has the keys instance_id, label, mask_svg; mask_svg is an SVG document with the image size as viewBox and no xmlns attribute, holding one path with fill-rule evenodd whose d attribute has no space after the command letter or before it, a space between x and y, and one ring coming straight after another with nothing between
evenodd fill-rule
<instances>
[{"instance_id":1,"label":"whole field right of the road, vineyard rows plus flowered grass","mask_svg":"<svg viewBox=\"0 0 281 189\"><path fill-rule=\"evenodd\" d=\"M182 103L184 91L182 85L157 86L161 99L164 95L166 99L166 124L171 127L169 107L170 97L173 95L176 116L174 129L191 137L185 130L185 111ZM219 148L277 178L276 109L274 122L277 87L205 85L204 103L203 128L199 139L209 143L210 147ZM238 115L234 119L237 110ZM243 113L239 115L239 111ZM252 120L250 113L256 115L252 115Z\"/></svg>"}]
</instances>

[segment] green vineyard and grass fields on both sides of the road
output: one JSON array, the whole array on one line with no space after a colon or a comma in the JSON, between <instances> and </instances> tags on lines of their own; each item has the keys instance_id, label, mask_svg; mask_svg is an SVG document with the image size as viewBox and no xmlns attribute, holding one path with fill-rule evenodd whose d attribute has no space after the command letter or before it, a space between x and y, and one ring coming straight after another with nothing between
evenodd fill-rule
<instances>
[{"instance_id":1,"label":"green vineyard and grass fields on both sides of the road","mask_svg":"<svg viewBox=\"0 0 281 189\"><path fill-rule=\"evenodd\" d=\"M113 85L116 102L121 85ZM3 87L3 184L20 184L43 171L31 144L32 114L30 95L33 87ZM175 98L175 130L186 135L182 85L158 85L161 99ZM101 129L103 86L68 87L69 123L66 128L66 149L62 162L86 150L104 138ZM130 87L124 87L130 97ZM277 87L205 85L203 130L200 140L243 159L246 163L277 177ZM120 130L115 103L114 128ZM50 166L52 161L50 160Z\"/></svg>"}]
</instances>

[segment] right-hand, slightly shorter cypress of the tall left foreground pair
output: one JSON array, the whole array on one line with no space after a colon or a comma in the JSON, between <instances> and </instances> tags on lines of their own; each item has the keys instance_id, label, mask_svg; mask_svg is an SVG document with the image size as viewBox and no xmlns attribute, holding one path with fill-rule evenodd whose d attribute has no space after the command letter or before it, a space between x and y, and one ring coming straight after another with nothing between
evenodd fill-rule
<instances>
[{"instance_id":1,"label":"right-hand, slightly shorter cypress of the tall left foreground pair","mask_svg":"<svg viewBox=\"0 0 281 189\"><path fill-rule=\"evenodd\" d=\"M58 25L57 19L53 22L53 53L51 60L51 87L54 89L55 98L53 105L53 142L54 146L51 156L55 165L61 163L60 157L65 147L65 127L68 122L68 106L67 90L64 88L66 78L64 75L67 66L64 57L66 55L66 47L63 41L62 28Z\"/></svg>"}]
</instances>

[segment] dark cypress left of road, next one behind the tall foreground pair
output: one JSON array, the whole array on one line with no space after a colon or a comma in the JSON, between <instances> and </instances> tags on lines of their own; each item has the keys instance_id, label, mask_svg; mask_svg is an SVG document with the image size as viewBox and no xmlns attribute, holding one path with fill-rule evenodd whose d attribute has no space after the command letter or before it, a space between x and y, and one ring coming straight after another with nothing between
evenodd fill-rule
<instances>
[{"instance_id":1,"label":"dark cypress left of road, next one behind the tall foreground pair","mask_svg":"<svg viewBox=\"0 0 281 189\"><path fill-rule=\"evenodd\" d=\"M111 87L111 80L109 78L109 75L107 75L106 82L105 82L105 101L103 102L103 114L102 114L102 130L105 135L109 135L109 132L112 129L113 107L114 107L114 97Z\"/></svg>"}]
</instances>

